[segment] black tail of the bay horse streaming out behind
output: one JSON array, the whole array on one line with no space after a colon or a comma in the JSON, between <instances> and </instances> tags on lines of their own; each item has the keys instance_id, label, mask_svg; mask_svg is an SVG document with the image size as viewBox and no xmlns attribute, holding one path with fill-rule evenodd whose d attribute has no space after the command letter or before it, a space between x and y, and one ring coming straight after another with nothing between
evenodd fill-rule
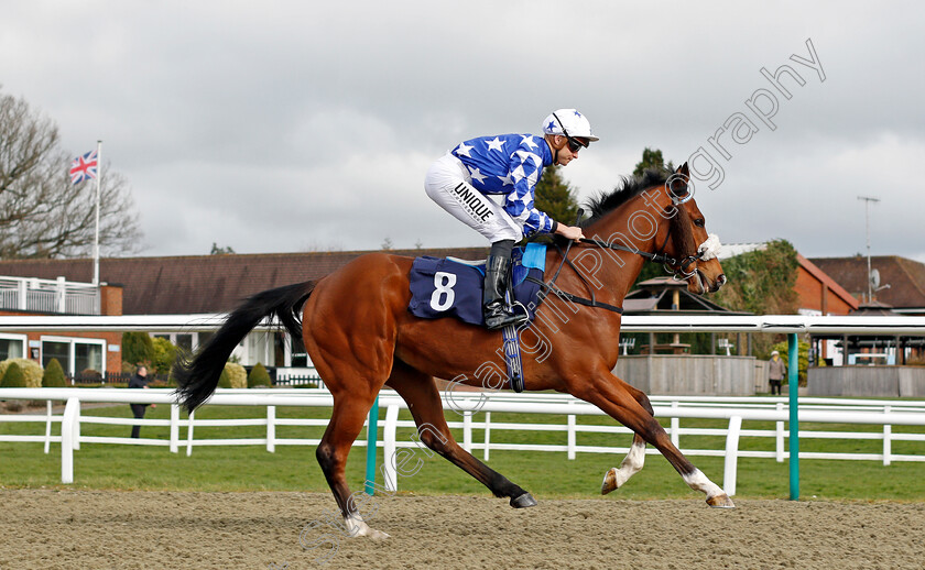
<instances>
[{"instance_id":1,"label":"black tail of the bay horse streaming out behind","mask_svg":"<svg viewBox=\"0 0 925 570\"><path fill-rule=\"evenodd\" d=\"M215 392L231 351L265 317L276 316L293 338L302 339L298 314L315 284L306 281L251 296L225 319L221 328L192 360L186 355L178 357L172 370L177 402L187 412L205 402Z\"/></svg>"}]
</instances>

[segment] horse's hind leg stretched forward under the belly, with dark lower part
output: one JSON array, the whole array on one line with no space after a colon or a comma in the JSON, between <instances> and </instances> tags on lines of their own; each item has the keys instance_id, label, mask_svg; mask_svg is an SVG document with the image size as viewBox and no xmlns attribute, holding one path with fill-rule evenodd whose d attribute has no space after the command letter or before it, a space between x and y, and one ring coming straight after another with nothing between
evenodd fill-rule
<instances>
[{"instance_id":1,"label":"horse's hind leg stretched forward under the belly, with dark lower part","mask_svg":"<svg viewBox=\"0 0 925 570\"><path fill-rule=\"evenodd\" d=\"M446 425L440 395L433 377L396 361L387 385L393 387L407 403L417 425L418 437L425 446L472 475L494 493L494 496L510 497L511 506L522 508L536 504L530 493L459 447L449 431L449 426ZM390 460L391 458L385 458L385 461Z\"/></svg>"}]
</instances>

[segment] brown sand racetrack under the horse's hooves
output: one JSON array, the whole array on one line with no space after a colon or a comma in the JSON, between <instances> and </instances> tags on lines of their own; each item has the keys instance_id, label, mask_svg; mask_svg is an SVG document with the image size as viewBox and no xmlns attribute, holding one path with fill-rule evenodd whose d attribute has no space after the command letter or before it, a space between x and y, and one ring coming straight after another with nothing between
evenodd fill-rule
<instances>
[{"instance_id":1,"label":"brown sand racetrack under the horse's hooves","mask_svg":"<svg viewBox=\"0 0 925 570\"><path fill-rule=\"evenodd\" d=\"M0 490L0 569L925 567L922 503L738 506L377 495L377 542L324 522L328 494Z\"/></svg>"}]
</instances>

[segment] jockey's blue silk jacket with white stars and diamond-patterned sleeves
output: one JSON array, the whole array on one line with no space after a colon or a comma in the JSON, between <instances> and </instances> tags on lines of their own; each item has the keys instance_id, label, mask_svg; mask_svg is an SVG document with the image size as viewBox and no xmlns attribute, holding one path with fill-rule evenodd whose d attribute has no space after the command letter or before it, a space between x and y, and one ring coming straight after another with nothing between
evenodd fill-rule
<instances>
[{"instance_id":1,"label":"jockey's blue silk jacket with white stars and diamond-patterned sleeves","mask_svg":"<svg viewBox=\"0 0 925 570\"><path fill-rule=\"evenodd\" d=\"M553 220L534 207L533 191L553 153L542 136L499 134L460 143L453 150L482 194L507 195L502 208L523 226L524 234L549 233Z\"/></svg>"}]
</instances>

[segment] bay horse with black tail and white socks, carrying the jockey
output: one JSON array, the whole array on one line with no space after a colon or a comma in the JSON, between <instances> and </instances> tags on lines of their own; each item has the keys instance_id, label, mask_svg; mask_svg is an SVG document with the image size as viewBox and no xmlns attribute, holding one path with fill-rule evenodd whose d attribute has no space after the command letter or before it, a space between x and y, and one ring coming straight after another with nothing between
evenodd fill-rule
<instances>
[{"instance_id":1,"label":"bay horse with black tail and white socks, carrying the jockey","mask_svg":"<svg viewBox=\"0 0 925 570\"><path fill-rule=\"evenodd\" d=\"M687 175L684 164L675 173L650 171L640 178L623 178L612 193L591 200L590 217L581 222L590 238L567 249L547 249L544 281L555 273L555 283L546 288L553 293L522 330L522 336L533 331L542 338L547 350L541 354L524 347L522 371L526 390L569 393L634 432L630 452L606 473L601 493L620 487L642 469L645 445L651 443L685 483L706 494L707 504L728 508L732 501L672 443L646 395L611 373L619 355L617 307L643 263L665 263L698 295L726 282L715 257L718 240L706 232ZM711 242L716 248L708 245ZM228 316L195 358L182 358L174 365L178 402L192 412L211 395L231 351L263 318L276 316L294 338L302 338L334 396L316 457L353 536L388 537L360 516L344 474L350 448L383 386L407 403L424 445L496 496L509 497L511 506L536 504L530 493L454 440L434 380L485 387L477 370L497 358L501 331L453 318L414 317L407 309L412 261L368 253L320 279L258 293Z\"/></svg>"}]
</instances>

